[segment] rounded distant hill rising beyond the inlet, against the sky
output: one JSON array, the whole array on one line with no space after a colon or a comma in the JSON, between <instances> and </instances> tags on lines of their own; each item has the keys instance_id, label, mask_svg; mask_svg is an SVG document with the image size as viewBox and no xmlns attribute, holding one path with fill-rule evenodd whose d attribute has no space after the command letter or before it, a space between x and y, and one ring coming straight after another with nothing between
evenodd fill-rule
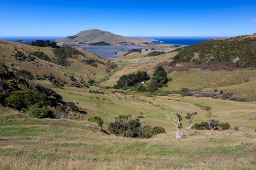
<instances>
[{"instance_id":1,"label":"rounded distant hill rising beyond the inlet, against the sky","mask_svg":"<svg viewBox=\"0 0 256 170\"><path fill-rule=\"evenodd\" d=\"M152 41L139 37L124 37L100 29L81 31L73 36L55 40L59 45L85 46L85 45L140 45L150 44Z\"/></svg>"}]
</instances>

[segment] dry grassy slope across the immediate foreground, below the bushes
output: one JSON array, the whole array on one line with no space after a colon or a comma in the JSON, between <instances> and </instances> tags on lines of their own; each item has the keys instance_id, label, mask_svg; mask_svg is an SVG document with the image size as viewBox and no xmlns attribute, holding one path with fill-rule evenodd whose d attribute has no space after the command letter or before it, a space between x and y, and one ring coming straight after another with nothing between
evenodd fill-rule
<instances>
[{"instance_id":1,"label":"dry grassy slope across the immediate foreground, below the bushes","mask_svg":"<svg viewBox=\"0 0 256 170\"><path fill-rule=\"evenodd\" d=\"M47 119L2 123L0 130L0 169L255 168L253 132L191 130L180 140L172 133L125 139L88 122Z\"/></svg>"}]
</instances>

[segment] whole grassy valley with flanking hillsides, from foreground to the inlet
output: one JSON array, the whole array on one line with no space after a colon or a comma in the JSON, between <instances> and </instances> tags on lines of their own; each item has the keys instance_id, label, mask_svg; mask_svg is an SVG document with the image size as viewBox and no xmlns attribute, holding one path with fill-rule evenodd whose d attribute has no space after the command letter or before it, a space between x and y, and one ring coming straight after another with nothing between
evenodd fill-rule
<instances>
[{"instance_id":1,"label":"whole grassy valley with flanking hillsides, from foreground to the inlet","mask_svg":"<svg viewBox=\"0 0 256 170\"><path fill-rule=\"evenodd\" d=\"M241 42L241 37L230 39L232 43L218 40L212 44L209 40L168 50L136 48L117 53L120 58L101 58L67 45L52 48L0 40L0 62L6 66L1 65L0 169L254 169L255 35L247 37L242 42L250 48L239 56L238 63L234 59L245 49L237 48L232 57L221 53L214 58L218 49L210 50L209 45L220 43L232 50L229 45ZM193 60L195 56L199 58ZM211 63L232 69L211 69ZM168 80L150 92L159 67ZM44 107L55 118L35 118L27 111L33 107L11 105L8 97L27 89L15 69L32 74L28 88L46 94L52 103L46 102ZM148 76L143 84L114 88L120 80L133 83L139 71ZM7 73L19 76L18 87L12 76L6 79ZM195 91L203 95L188 95ZM70 109L67 117L59 117L60 106L67 109L73 105L77 108ZM220 124L228 122L230 128L192 128L183 138L175 139L176 127L166 112L179 107L184 113L196 113L193 125L218 120ZM165 133L148 133L145 138L113 135L110 123L129 114L144 122L143 127L162 127ZM90 116L100 116L104 124L88 121ZM182 130L189 126L185 118L181 122Z\"/></svg>"}]
</instances>

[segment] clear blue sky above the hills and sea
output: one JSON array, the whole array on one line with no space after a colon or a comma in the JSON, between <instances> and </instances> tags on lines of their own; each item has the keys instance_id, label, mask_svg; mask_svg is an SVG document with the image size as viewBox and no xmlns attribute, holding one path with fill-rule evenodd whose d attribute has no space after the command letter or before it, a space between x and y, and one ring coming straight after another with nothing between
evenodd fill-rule
<instances>
[{"instance_id":1,"label":"clear blue sky above the hills and sea","mask_svg":"<svg viewBox=\"0 0 256 170\"><path fill-rule=\"evenodd\" d=\"M0 0L0 23L0 36L237 36L256 33L256 1Z\"/></svg>"}]
</instances>

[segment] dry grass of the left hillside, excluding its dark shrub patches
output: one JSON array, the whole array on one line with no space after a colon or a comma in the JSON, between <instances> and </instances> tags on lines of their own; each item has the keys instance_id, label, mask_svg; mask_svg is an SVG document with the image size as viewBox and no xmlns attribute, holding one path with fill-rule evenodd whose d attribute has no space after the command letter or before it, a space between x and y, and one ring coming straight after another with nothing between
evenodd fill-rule
<instances>
[{"instance_id":1,"label":"dry grass of the left hillside, excluding its dark shrub patches","mask_svg":"<svg viewBox=\"0 0 256 170\"><path fill-rule=\"evenodd\" d=\"M18 42L0 40L0 62L5 63L9 67L16 67L18 69L28 70L32 74L34 74L34 76L39 75L40 77L43 77L43 75L48 76L49 74L52 74L56 77L56 79L64 80L68 84L72 83L71 79L69 78L69 75L75 76L77 80L83 78L86 81L88 81L89 79L100 80L101 78L104 78L104 76L106 75L106 70L108 69L108 67L106 67L105 65L98 63L97 67L93 67L81 63L81 59L93 58L105 63L106 65L109 64L105 59L102 59L96 56L95 54L92 54L83 49L78 50L84 53L86 58L82 57L81 55L76 56L76 59L68 58L68 62L71 63L69 67L56 65L55 63L47 62L40 58L36 58L35 61L31 62L19 62L16 61L15 58L12 56L15 52L14 48L22 51L26 55L30 52L36 52L39 50L46 53L49 56L49 58L54 58L55 56L52 51L53 48L30 46L20 44ZM65 76L64 74L67 74L68 76Z\"/></svg>"}]
</instances>

